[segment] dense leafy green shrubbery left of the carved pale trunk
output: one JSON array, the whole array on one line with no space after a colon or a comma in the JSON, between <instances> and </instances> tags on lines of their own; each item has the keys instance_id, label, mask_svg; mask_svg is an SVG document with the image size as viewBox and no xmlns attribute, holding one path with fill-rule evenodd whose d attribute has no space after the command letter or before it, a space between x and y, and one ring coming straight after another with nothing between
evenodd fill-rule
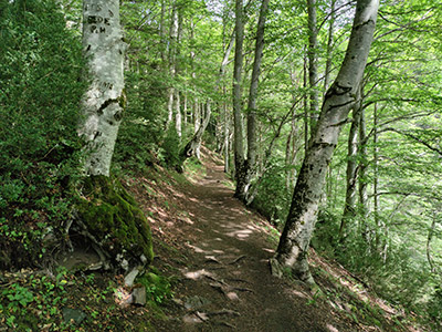
<instances>
[{"instance_id":1,"label":"dense leafy green shrubbery left of the carved pale trunk","mask_svg":"<svg viewBox=\"0 0 442 332\"><path fill-rule=\"evenodd\" d=\"M0 9L0 268L40 260L42 235L70 217L84 91L81 42L55 1ZM39 226L40 225L40 226ZM32 243L32 246L31 246Z\"/></svg>"}]
</instances>

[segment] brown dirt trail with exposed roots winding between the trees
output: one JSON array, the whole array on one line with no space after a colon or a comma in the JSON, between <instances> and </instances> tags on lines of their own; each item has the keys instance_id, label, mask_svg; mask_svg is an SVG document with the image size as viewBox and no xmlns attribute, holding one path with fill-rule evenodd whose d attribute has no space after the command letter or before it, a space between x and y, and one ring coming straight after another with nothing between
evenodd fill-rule
<instances>
[{"instance_id":1,"label":"brown dirt trail with exposed roots winding between the trees","mask_svg":"<svg viewBox=\"0 0 442 332\"><path fill-rule=\"evenodd\" d=\"M187 239L188 263L178 267L170 320L160 331L358 331L351 322L316 303L303 286L270 274L270 241L262 217L233 198L223 166L204 160L207 175L176 195L188 222L179 226ZM311 302L309 304L307 304Z\"/></svg>"}]
</instances>

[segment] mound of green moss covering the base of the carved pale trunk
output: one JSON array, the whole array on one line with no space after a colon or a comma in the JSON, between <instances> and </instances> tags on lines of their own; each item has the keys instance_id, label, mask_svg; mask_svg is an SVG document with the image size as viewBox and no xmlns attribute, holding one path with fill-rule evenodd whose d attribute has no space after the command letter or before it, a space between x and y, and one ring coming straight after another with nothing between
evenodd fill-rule
<instances>
[{"instance_id":1,"label":"mound of green moss covering the base of the carved pale trunk","mask_svg":"<svg viewBox=\"0 0 442 332\"><path fill-rule=\"evenodd\" d=\"M152 261L151 231L147 219L117 179L88 177L84 181L83 194L77 203L78 217L107 252L114 258L126 252L129 256L126 259L139 259L144 255L148 262Z\"/></svg>"}]
</instances>

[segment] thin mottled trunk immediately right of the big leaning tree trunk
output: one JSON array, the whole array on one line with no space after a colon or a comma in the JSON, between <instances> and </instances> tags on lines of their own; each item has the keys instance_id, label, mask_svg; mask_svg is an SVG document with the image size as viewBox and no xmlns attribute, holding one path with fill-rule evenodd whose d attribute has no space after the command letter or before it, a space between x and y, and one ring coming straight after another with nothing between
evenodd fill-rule
<instances>
[{"instance_id":1,"label":"thin mottled trunk immediately right of the big leaning tree trunk","mask_svg":"<svg viewBox=\"0 0 442 332\"><path fill-rule=\"evenodd\" d=\"M360 113L362 112L361 107L361 93L360 89L358 89L358 93L356 95L357 103L352 107L352 121L350 133L348 134L348 152L347 152L347 188L346 188L346 200L344 205L343 218L340 220L339 228L339 241L344 242L346 235L346 227L348 221L355 219L356 217L356 203L357 203L357 179L358 179L358 163L357 163L357 154L358 154L358 134L359 134L359 124L360 124Z\"/></svg>"}]
</instances>

